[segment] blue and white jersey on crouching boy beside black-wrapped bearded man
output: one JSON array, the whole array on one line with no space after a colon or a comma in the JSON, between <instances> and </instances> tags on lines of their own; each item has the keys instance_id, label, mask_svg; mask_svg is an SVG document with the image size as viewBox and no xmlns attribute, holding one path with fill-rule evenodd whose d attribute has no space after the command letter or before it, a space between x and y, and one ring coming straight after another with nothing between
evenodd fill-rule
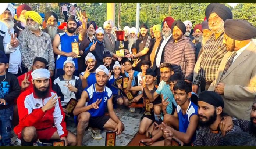
<instances>
[{"instance_id":1,"label":"blue and white jersey on crouching boy beside black-wrapped bearded man","mask_svg":"<svg viewBox=\"0 0 256 149\"><path fill-rule=\"evenodd\" d=\"M179 131L186 133L186 131L188 129L189 122L190 122L190 117L192 115L197 115L198 114L198 112L197 112L198 106L190 101L185 115L183 115L181 107L179 105L177 105L176 109L177 109L178 119L179 119ZM196 132L193 135L193 137L191 139L191 142L195 141L195 139L196 139Z\"/></svg>"}]
</instances>

